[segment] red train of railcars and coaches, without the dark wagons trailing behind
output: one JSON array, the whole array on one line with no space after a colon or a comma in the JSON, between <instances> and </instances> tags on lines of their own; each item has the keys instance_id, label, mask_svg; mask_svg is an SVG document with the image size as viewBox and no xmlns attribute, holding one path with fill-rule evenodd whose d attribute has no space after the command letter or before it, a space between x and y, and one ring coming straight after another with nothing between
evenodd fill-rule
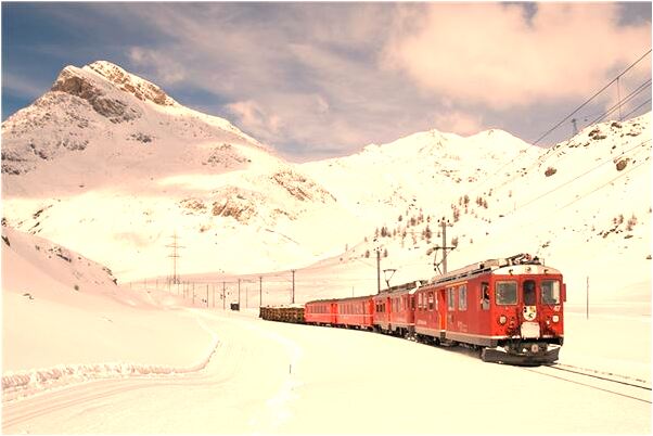
<instances>
[{"instance_id":1,"label":"red train of railcars and coaches, without the dark wagons trailing behind","mask_svg":"<svg viewBox=\"0 0 653 436\"><path fill-rule=\"evenodd\" d=\"M558 360L564 339L561 272L520 254L364 297L308 302L308 324L367 329L436 345L464 344L485 361Z\"/></svg>"}]
</instances>

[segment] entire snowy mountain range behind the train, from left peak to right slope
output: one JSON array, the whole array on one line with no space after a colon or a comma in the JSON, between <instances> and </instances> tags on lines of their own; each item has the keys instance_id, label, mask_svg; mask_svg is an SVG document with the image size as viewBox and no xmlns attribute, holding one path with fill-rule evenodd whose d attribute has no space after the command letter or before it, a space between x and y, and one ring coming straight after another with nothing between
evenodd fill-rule
<instances>
[{"instance_id":1,"label":"entire snowy mountain range behind the train, from left peak to right slope","mask_svg":"<svg viewBox=\"0 0 653 436\"><path fill-rule=\"evenodd\" d=\"M604 297L617 286L646 299L650 118L596 125L548 150L501 130L431 130L293 165L97 62L64 68L3 123L3 214L120 280L170 274L177 243L184 275L313 265L319 296L362 293L376 249L393 283L433 275L445 218L449 269L532 252L565 272L572 298L590 278Z\"/></svg>"}]
</instances>

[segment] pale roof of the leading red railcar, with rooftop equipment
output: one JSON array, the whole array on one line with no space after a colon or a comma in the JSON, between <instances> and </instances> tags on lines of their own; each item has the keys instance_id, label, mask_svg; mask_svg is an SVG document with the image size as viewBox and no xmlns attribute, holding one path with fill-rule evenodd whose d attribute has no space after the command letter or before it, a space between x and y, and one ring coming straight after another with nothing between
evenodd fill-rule
<instances>
[{"instance_id":1,"label":"pale roof of the leading red railcar, with rooftop equipment","mask_svg":"<svg viewBox=\"0 0 653 436\"><path fill-rule=\"evenodd\" d=\"M526 253L521 253L514 256L488 259L466 267L447 272L443 275L436 275L428 284L441 284L447 282L453 282L460 279L468 279L482 273L549 273L560 274L560 271L542 265L537 256L532 256Z\"/></svg>"}]
</instances>

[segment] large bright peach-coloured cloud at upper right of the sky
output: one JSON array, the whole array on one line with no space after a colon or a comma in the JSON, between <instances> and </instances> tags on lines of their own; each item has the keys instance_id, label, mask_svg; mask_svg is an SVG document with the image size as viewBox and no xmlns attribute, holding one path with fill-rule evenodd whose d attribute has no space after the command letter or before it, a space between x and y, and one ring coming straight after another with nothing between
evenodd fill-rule
<instances>
[{"instance_id":1,"label":"large bright peach-coloured cloud at upper right of the sky","mask_svg":"<svg viewBox=\"0 0 653 436\"><path fill-rule=\"evenodd\" d=\"M426 93L494 110L582 98L650 47L650 23L618 17L612 3L408 5L381 63Z\"/></svg>"}]
</instances>

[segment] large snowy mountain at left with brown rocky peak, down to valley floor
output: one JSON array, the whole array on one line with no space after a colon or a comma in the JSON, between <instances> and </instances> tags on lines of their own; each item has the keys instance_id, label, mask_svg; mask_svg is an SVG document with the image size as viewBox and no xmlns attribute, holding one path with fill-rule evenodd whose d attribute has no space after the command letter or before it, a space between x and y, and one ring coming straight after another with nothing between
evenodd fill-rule
<instances>
[{"instance_id":1,"label":"large snowy mountain at left with brown rocky peak, down to valley floor","mask_svg":"<svg viewBox=\"0 0 653 436\"><path fill-rule=\"evenodd\" d=\"M295 226L306 216L346 222L331 193L268 148L108 62L64 68L2 124L2 189L10 225L120 279L171 273L174 233L183 272L273 269L328 249Z\"/></svg>"}]
</instances>

